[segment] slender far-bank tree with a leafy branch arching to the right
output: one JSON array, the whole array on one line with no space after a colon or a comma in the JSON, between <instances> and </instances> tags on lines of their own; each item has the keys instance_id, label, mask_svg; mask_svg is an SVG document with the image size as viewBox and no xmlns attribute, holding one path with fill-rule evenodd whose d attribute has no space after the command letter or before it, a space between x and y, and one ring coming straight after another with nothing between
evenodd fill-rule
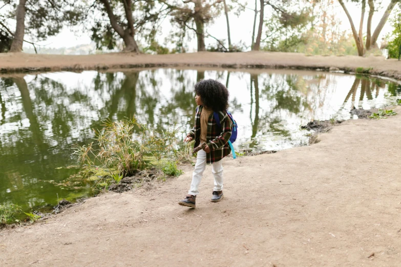
<instances>
[{"instance_id":1,"label":"slender far-bank tree with a leafy branch arching to the right","mask_svg":"<svg viewBox=\"0 0 401 267\"><path fill-rule=\"evenodd\" d=\"M262 40L263 25L264 25L264 8L269 6L275 15L278 16L282 27L294 28L301 24L304 24L309 17L309 10L307 8L300 8L300 5L294 5L288 0L260 0L260 11L259 11L259 27L258 35L252 50L259 51L260 43ZM305 6L307 7L307 6ZM257 8L255 5L255 14ZM255 26L255 23L254 23Z\"/></svg>"}]
</instances>

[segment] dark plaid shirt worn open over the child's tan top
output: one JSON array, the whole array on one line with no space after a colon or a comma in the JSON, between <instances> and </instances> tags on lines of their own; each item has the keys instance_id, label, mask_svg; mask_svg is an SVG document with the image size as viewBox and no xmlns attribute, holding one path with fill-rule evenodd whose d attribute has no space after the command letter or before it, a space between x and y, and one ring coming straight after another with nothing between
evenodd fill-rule
<instances>
[{"instance_id":1,"label":"dark plaid shirt worn open over the child's tan top","mask_svg":"<svg viewBox=\"0 0 401 267\"><path fill-rule=\"evenodd\" d=\"M197 109L198 111L195 115L194 128L189 132L189 135L191 135L195 140L194 147L197 147L200 144L200 114L203 105L198 106ZM233 123L227 116L226 112L218 112L218 114L221 128L217 126L213 113L207 121L206 142L208 142L207 146L210 148L210 153L206 154L206 164L218 162L231 152L231 148L227 142L231 137L231 128L233 127Z\"/></svg>"}]
</instances>

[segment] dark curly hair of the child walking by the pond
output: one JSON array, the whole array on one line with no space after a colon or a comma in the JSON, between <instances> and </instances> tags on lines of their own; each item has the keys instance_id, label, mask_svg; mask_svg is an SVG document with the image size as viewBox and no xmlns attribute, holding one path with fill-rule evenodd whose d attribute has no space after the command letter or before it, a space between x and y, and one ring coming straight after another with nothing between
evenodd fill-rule
<instances>
[{"instance_id":1,"label":"dark curly hair of the child walking by the pond","mask_svg":"<svg viewBox=\"0 0 401 267\"><path fill-rule=\"evenodd\" d=\"M195 93L201 97L203 105L210 107L214 112L228 108L228 90L219 81L213 79L200 80L195 84Z\"/></svg>"}]
</instances>

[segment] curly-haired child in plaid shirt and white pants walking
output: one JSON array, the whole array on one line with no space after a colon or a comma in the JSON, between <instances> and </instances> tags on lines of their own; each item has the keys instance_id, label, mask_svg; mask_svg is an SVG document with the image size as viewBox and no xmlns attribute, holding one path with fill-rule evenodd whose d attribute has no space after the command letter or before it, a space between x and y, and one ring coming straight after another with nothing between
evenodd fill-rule
<instances>
[{"instance_id":1,"label":"curly-haired child in plaid shirt and white pants walking","mask_svg":"<svg viewBox=\"0 0 401 267\"><path fill-rule=\"evenodd\" d=\"M191 189L188 195L178 204L195 208L196 196L199 194L199 184L206 164L212 164L215 177L212 202L223 198L223 167L221 160L231 152L228 140L231 137L233 123L226 113L228 107L228 91L220 82L208 79L195 84L195 101L198 105L194 128L188 133L185 142L195 140L195 147L206 142L206 147L198 151ZM214 112L219 115L220 125L216 125Z\"/></svg>"}]
</instances>

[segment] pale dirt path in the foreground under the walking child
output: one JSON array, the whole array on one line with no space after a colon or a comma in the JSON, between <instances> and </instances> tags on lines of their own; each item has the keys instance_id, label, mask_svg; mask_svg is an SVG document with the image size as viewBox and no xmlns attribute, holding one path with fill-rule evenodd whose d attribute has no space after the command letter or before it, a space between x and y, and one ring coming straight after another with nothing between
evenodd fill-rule
<instances>
[{"instance_id":1,"label":"pale dirt path in the foreground under the walking child","mask_svg":"<svg viewBox=\"0 0 401 267\"><path fill-rule=\"evenodd\" d=\"M320 139L225 160L220 203L208 202L208 167L197 209L176 204L187 169L150 190L3 230L0 265L399 266L401 116L348 121Z\"/></svg>"}]
</instances>

